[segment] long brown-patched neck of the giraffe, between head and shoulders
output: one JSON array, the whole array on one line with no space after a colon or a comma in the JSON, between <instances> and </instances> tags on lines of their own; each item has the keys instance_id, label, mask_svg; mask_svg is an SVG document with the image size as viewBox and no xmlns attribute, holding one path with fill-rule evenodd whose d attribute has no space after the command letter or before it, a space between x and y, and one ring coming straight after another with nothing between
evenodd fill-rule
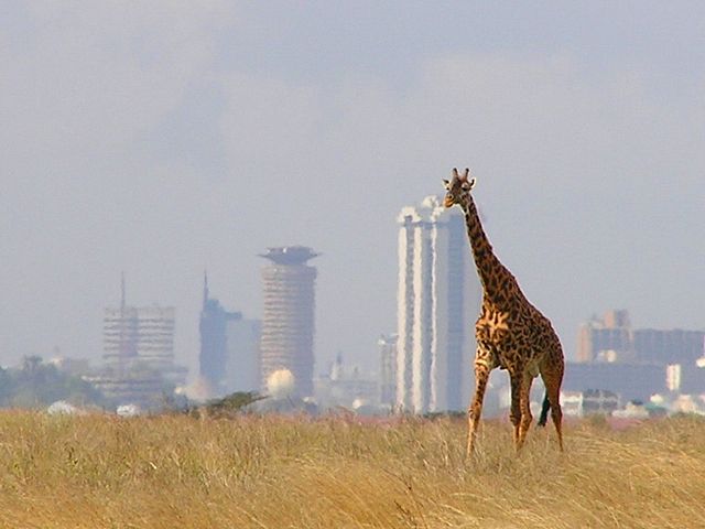
<instances>
[{"instance_id":1,"label":"long brown-patched neck of the giraffe, between head and shoulders","mask_svg":"<svg viewBox=\"0 0 705 529\"><path fill-rule=\"evenodd\" d=\"M467 236L470 239L473 258L482 283L485 296L492 302L506 302L506 291L510 289L508 283L513 281L513 276L495 256L492 245L482 229L482 223L480 223L480 217L471 196L468 195L465 204L463 204L463 210L465 212L465 225L467 227Z\"/></svg>"}]
</instances>

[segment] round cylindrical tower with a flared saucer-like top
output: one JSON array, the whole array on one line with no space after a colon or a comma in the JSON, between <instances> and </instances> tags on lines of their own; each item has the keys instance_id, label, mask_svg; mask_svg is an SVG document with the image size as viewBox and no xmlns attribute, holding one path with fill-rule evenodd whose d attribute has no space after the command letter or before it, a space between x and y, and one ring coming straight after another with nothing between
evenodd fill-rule
<instances>
[{"instance_id":1,"label":"round cylindrical tower with a flared saucer-like top","mask_svg":"<svg viewBox=\"0 0 705 529\"><path fill-rule=\"evenodd\" d=\"M311 248L269 248L261 255L262 336L260 342L260 387L269 377L289 370L300 397L313 395L314 283L316 269L307 264L316 257Z\"/></svg>"}]
</instances>

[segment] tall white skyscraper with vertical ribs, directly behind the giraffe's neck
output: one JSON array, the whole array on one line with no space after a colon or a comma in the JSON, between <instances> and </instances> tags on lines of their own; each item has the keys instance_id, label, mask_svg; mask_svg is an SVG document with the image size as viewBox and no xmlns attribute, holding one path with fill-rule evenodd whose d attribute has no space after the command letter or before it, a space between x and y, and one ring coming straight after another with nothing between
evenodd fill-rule
<instances>
[{"instance_id":1,"label":"tall white skyscraper with vertical ribs, directly behind the giraffe's neck","mask_svg":"<svg viewBox=\"0 0 705 529\"><path fill-rule=\"evenodd\" d=\"M398 218L397 406L426 413L468 404L481 288L465 217L437 196Z\"/></svg>"}]
</instances>

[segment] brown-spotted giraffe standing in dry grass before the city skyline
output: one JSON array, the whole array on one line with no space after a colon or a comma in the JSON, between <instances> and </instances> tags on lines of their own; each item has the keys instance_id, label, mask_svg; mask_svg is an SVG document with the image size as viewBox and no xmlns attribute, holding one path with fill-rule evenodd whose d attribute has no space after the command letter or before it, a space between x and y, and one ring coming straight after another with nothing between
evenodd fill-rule
<instances>
[{"instance_id":1,"label":"brown-spotted giraffe standing in dry grass before the city skyline","mask_svg":"<svg viewBox=\"0 0 705 529\"><path fill-rule=\"evenodd\" d=\"M550 410L563 451L563 414L558 401L564 370L561 342L549 319L527 300L517 279L495 256L470 195L475 179L468 180L468 169L463 175L454 169L452 180L444 180L447 192L444 205L458 204L465 213L473 258L482 284L482 305L475 324L475 395L468 408L467 456L473 454L485 389L489 374L496 367L509 373L509 417L517 451L523 445L531 425L529 393L539 375L546 388L539 425L545 425Z\"/></svg>"}]
</instances>

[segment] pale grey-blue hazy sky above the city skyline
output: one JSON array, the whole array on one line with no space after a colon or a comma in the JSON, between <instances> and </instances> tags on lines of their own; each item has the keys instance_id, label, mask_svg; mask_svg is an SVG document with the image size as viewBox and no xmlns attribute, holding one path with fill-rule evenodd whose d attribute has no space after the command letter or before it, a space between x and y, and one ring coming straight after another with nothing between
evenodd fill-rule
<instances>
[{"instance_id":1,"label":"pale grey-blue hazy sky above the city skyline","mask_svg":"<svg viewBox=\"0 0 705 529\"><path fill-rule=\"evenodd\" d=\"M610 307L705 327L702 2L0 0L0 123L6 365L99 358L124 270L195 367L203 270L258 317L299 244L316 370L375 369L395 217L454 165L568 356Z\"/></svg>"}]
</instances>

